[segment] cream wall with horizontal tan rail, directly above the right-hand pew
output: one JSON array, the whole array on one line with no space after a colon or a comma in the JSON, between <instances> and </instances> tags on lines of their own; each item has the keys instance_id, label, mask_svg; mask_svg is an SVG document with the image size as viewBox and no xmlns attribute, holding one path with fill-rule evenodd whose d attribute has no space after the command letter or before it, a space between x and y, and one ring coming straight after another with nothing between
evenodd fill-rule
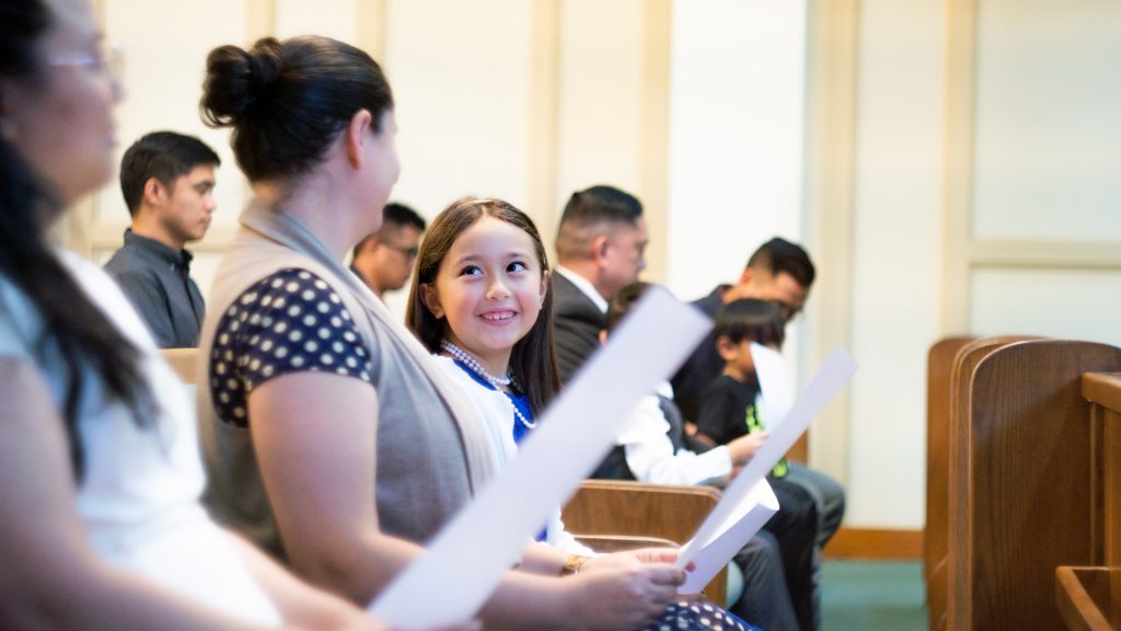
<instances>
[{"instance_id":1,"label":"cream wall with horizontal tan rail, directly above the right-hand pew","mask_svg":"<svg viewBox=\"0 0 1121 631\"><path fill-rule=\"evenodd\" d=\"M1121 344L1121 4L978 9L969 329Z\"/></svg>"}]
</instances>

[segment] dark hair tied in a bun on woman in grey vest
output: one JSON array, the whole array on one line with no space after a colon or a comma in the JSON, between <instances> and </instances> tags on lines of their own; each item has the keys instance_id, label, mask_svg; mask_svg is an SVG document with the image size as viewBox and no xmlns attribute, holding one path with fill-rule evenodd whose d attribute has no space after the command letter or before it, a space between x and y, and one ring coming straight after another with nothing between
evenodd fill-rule
<instances>
[{"instance_id":1,"label":"dark hair tied in a bun on woman in grey vest","mask_svg":"<svg viewBox=\"0 0 1121 631\"><path fill-rule=\"evenodd\" d=\"M232 127L230 144L250 182L311 171L360 110L382 116L393 97L381 67L362 51L318 36L221 46L206 57L200 103L210 127Z\"/></svg>"}]
</instances>

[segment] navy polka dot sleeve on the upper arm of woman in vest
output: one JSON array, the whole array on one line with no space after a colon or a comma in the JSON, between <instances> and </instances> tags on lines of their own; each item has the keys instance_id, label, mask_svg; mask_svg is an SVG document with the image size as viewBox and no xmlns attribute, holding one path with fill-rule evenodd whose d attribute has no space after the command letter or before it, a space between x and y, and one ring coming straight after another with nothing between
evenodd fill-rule
<instances>
[{"instance_id":1,"label":"navy polka dot sleeve on the upper arm of woman in vest","mask_svg":"<svg viewBox=\"0 0 1121 631\"><path fill-rule=\"evenodd\" d=\"M245 427L245 397L289 373L323 372L370 381L370 353L330 285L304 269L281 269L226 309L211 351L211 397L223 422Z\"/></svg>"}]
</instances>

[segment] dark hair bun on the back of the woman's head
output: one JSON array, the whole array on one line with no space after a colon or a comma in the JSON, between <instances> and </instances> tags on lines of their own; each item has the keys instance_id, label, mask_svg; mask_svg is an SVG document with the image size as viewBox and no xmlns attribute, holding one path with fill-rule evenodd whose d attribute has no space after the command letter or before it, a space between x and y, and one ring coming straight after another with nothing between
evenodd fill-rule
<instances>
[{"instance_id":1,"label":"dark hair bun on the back of the woman's head","mask_svg":"<svg viewBox=\"0 0 1121 631\"><path fill-rule=\"evenodd\" d=\"M272 37L259 39L249 52L238 46L211 51L200 103L203 120L211 127L237 125L268 97L280 70L280 43Z\"/></svg>"}]
</instances>

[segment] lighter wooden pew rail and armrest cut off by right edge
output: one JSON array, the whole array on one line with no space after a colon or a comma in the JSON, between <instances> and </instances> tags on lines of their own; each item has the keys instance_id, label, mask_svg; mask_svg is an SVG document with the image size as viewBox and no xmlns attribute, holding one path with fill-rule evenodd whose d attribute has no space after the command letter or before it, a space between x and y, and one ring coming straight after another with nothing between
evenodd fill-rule
<instances>
[{"instance_id":1,"label":"lighter wooden pew rail and armrest cut off by right edge","mask_svg":"<svg viewBox=\"0 0 1121 631\"><path fill-rule=\"evenodd\" d=\"M1055 601L1068 629L1121 628L1121 374L1087 373L1093 567L1060 566Z\"/></svg>"}]
</instances>

